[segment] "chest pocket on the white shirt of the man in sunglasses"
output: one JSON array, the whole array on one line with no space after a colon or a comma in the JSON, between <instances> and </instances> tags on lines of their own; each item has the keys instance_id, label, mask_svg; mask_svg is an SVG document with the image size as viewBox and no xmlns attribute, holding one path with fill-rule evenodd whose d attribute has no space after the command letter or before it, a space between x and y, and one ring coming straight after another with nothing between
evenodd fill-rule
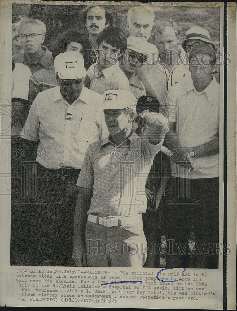
<instances>
[{"instance_id":1,"label":"chest pocket on the white shirt of the man in sunglasses","mask_svg":"<svg viewBox=\"0 0 237 311\"><path fill-rule=\"evenodd\" d=\"M99 128L95 121L81 120L77 126L77 142L94 142L99 139Z\"/></svg>"}]
</instances>

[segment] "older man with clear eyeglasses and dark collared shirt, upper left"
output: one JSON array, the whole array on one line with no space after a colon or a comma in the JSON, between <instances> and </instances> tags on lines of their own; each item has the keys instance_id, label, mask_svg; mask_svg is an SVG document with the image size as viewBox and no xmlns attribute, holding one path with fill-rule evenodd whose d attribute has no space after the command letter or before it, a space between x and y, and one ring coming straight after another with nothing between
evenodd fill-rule
<instances>
[{"instance_id":1,"label":"older man with clear eyeglasses and dark collared shirt, upper left","mask_svg":"<svg viewBox=\"0 0 237 311\"><path fill-rule=\"evenodd\" d=\"M30 17L25 18L18 28L17 38L19 38L24 52L15 55L13 61L27 65L32 74L53 65L52 53L42 46L45 33L45 24Z\"/></svg>"}]
</instances>

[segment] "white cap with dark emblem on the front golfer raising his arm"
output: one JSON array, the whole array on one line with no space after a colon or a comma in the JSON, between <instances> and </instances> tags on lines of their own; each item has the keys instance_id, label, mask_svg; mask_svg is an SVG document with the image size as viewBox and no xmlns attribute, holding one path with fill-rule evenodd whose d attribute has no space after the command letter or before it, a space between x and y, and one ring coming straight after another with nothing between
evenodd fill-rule
<instances>
[{"instance_id":1,"label":"white cap with dark emblem on the front golfer raising his arm","mask_svg":"<svg viewBox=\"0 0 237 311\"><path fill-rule=\"evenodd\" d=\"M100 110L108 109L136 109L137 99L133 93L127 90L109 90L103 94L104 105Z\"/></svg>"}]
</instances>

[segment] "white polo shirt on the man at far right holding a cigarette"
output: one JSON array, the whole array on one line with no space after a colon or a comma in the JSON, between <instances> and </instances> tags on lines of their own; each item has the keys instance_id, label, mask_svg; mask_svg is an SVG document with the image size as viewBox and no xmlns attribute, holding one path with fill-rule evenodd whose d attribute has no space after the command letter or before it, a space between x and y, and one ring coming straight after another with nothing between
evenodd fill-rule
<instances>
[{"instance_id":1,"label":"white polo shirt on the man at far right holding a cigarette","mask_svg":"<svg viewBox=\"0 0 237 311\"><path fill-rule=\"evenodd\" d=\"M219 83L215 77L198 92L189 78L171 87L166 105L169 122L176 123L178 146L193 148L213 139L219 132ZM219 176L219 154L194 159L195 171L188 172L171 161L172 176L182 178L214 178Z\"/></svg>"}]
</instances>

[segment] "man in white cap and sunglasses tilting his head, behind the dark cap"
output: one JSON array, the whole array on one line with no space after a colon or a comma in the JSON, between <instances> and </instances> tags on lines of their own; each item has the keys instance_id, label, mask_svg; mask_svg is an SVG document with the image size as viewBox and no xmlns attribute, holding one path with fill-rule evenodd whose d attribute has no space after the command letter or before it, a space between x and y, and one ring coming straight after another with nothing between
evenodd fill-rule
<instances>
[{"instance_id":1,"label":"man in white cap and sunglasses tilting his head, behind the dark cap","mask_svg":"<svg viewBox=\"0 0 237 311\"><path fill-rule=\"evenodd\" d=\"M146 95L146 89L137 76L137 70L148 58L148 42L140 37L127 38L127 50L119 60L119 66L128 78L130 91L136 99Z\"/></svg>"}]
</instances>

